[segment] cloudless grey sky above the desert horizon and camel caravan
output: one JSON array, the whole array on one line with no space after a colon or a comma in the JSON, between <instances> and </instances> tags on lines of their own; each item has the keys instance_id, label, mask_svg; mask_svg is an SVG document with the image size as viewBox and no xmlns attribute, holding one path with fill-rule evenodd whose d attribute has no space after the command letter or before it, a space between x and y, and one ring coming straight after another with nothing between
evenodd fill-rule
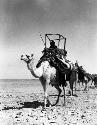
<instances>
[{"instance_id":1,"label":"cloudless grey sky above the desert horizon and camel caravan","mask_svg":"<svg viewBox=\"0 0 97 125\"><path fill-rule=\"evenodd\" d=\"M20 57L39 60L40 33L66 37L67 58L97 73L97 0L0 0L0 78L33 78Z\"/></svg>"}]
</instances>

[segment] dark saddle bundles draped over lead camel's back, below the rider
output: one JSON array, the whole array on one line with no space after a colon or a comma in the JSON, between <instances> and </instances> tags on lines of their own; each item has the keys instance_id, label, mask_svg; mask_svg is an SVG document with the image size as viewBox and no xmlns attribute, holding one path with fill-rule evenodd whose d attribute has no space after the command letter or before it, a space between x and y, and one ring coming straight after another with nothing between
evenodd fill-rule
<instances>
[{"instance_id":1,"label":"dark saddle bundles draped over lead camel's back, below the rider","mask_svg":"<svg viewBox=\"0 0 97 125\"><path fill-rule=\"evenodd\" d=\"M68 74L71 67L68 68L68 66L60 60L60 58L61 54L56 53L54 50L48 49L46 52L44 52L36 67L38 68L42 62L48 61L51 66L55 67L62 74Z\"/></svg>"}]
</instances>

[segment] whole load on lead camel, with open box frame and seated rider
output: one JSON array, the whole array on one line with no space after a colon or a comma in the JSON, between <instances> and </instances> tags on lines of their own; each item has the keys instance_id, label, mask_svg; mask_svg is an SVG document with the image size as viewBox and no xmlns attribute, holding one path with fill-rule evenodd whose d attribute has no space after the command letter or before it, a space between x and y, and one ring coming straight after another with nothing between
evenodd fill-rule
<instances>
[{"instance_id":1,"label":"whole load on lead camel, with open box frame and seated rider","mask_svg":"<svg viewBox=\"0 0 97 125\"><path fill-rule=\"evenodd\" d=\"M56 36L57 38L55 38ZM43 61L48 61L50 65L55 67L59 72L63 74L68 72L71 65L69 63L70 61L66 59L66 38L60 34L45 34L45 41L43 39L42 41L44 42L45 47L42 51L43 55L36 67L38 68ZM49 41L49 47L47 47L47 41ZM61 46L60 43L62 43Z\"/></svg>"}]
</instances>

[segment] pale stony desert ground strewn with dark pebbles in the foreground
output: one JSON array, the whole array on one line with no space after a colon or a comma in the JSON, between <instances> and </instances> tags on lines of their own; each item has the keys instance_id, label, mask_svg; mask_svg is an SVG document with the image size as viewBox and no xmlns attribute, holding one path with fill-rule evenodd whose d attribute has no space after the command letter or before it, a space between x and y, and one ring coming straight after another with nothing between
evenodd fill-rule
<instances>
[{"instance_id":1,"label":"pale stony desert ground strewn with dark pebbles in the foreground","mask_svg":"<svg viewBox=\"0 0 97 125\"><path fill-rule=\"evenodd\" d=\"M49 94L56 94L53 87ZM43 111L42 87L0 88L0 125L97 125L97 88L76 94L66 96L65 106L61 96L56 106Z\"/></svg>"}]
</instances>

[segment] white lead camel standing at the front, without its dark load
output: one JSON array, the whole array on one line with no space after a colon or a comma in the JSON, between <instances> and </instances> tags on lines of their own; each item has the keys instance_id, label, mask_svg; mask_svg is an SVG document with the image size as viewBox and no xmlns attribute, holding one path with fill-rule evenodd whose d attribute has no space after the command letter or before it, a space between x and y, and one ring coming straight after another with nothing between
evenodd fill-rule
<instances>
[{"instance_id":1,"label":"white lead camel standing at the front, without its dark load","mask_svg":"<svg viewBox=\"0 0 97 125\"><path fill-rule=\"evenodd\" d=\"M36 65L34 64L33 54L22 55L21 60L24 60L27 63L27 67L30 70L31 74L35 78L39 78L39 80L41 81L41 84L42 84L43 90L44 90L44 108L46 108L46 104L47 104L47 101L48 101L47 100L48 99L47 85L49 85L49 84L52 84L59 92L58 99L55 103L55 104L57 104L58 101L59 101L59 96L60 96L61 91L62 91L60 89L60 83L59 83L59 79L58 79L57 70L54 67L50 66L48 61L42 62L40 67L36 68ZM65 103L64 86L63 86L63 90L64 90L64 103Z\"/></svg>"}]
</instances>

